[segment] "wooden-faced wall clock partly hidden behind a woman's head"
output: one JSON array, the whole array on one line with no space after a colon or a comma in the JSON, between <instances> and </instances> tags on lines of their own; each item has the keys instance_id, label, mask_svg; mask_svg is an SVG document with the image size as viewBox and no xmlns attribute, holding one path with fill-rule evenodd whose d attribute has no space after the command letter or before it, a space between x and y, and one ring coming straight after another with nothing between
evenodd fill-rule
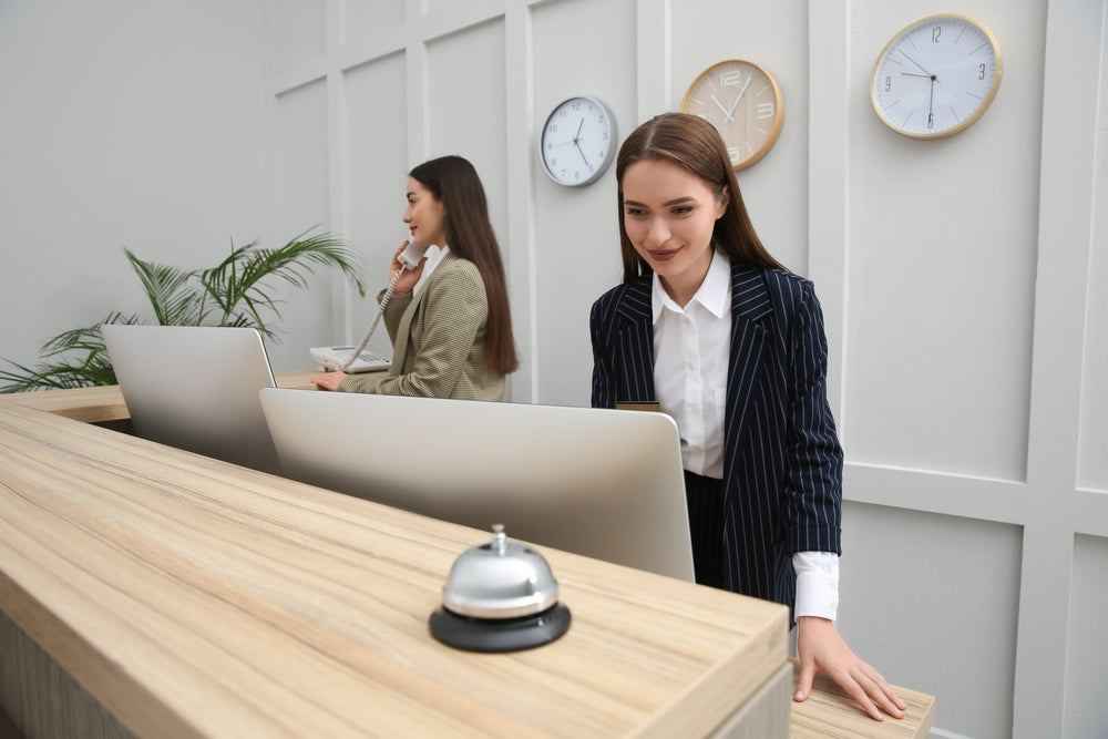
<instances>
[{"instance_id":1,"label":"wooden-faced wall clock partly hidden behind a woman's head","mask_svg":"<svg viewBox=\"0 0 1108 739\"><path fill-rule=\"evenodd\" d=\"M741 59L701 72L685 93L681 112L716 126L736 170L766 156L784 121L777 81L758 64Z\"/></svg>"}]
</instances>

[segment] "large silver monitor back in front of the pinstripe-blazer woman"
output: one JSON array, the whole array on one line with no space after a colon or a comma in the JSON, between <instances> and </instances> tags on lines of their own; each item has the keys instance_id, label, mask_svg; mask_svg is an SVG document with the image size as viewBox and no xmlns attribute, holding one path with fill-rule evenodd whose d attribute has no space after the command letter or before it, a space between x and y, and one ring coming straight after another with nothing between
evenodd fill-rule
<instances>
[{"instance_id":1,"label":"large silver monitor back in front of the pinstripe-blazer woman","mask_svg":"<svg viewBox=\"0 0 1108 739\"><path fill-rule=\"evenodd\" d=\"M294 480L694 582L668 415L294 389L259 397Z\"/></svg>"}]
</instances>

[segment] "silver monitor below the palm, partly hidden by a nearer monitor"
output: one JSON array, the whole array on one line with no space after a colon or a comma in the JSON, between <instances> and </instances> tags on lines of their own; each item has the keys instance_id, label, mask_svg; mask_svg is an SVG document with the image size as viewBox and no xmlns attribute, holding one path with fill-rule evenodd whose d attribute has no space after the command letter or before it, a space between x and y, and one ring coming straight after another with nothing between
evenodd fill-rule
<instances>
[{"instance_id":1,"label":"silver monitor below the palm, partly hidden by a nearer monitor","mask_svg":"<svg viewBox=\"0 0 1108 739\"><path fill-rule=\"evenodd\" d=\"M280 473L258 391L277 387L261 335L213 326L101 327L135 434Z\"/></svg>"}]
</instances>

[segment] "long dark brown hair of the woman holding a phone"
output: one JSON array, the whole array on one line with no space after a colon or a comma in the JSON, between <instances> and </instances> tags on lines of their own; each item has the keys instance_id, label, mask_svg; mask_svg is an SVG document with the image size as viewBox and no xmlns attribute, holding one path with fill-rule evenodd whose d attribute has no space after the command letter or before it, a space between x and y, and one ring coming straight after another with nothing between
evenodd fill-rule
<instances>
[{"instance_id":1,"label":"long dark brown hair of the woman holding a phone","mask_svg":"<svg viewBox=\"0 0 1108 739\"><path fill-rule=\"evenodd\" d=\"M501 374L514 372L520 367L520 357L512 336L507 279L476 170L461 156L442 156L418 165L409 176L442 203L451 253L472 261L481 273L489 301L485 366Z\"/></svg>"}]
</instances>

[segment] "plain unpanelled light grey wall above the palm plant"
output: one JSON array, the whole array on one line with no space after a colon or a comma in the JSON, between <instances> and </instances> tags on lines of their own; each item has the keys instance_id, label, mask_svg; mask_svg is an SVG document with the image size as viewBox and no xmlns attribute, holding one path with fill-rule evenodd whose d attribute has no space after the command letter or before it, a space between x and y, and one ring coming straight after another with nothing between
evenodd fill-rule
<instances>
[{"instance_id":1,"label":"plain unpanelled light grey wall above the palm plant","mask_svg":"<svg viewBox=\"0 0 1108 739\"><path fill-rule=\"evenodd\" d=\"M0 2L0 358L141 310L124 246L195 268L267 234L261 7Z\"/></svg>"}]
</instances>

